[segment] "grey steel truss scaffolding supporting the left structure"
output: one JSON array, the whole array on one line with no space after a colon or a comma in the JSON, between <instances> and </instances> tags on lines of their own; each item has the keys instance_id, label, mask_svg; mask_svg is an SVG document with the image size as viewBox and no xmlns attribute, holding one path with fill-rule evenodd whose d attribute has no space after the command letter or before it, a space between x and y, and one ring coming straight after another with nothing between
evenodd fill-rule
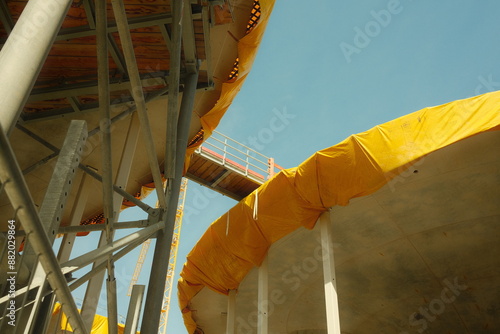
<instances>
[{"instance_id":1,"label":"grey steel truss scaffolding supporting the left structure","mask_svg":"<svg viewBox=\"0 0 500 334\"><path fill-rule=\"evenodd\" d=\"M46 1L30 0L27 6L30 6L31 10L23 11L15 25L12 24L8 8L3 2L0 5L0 20L7 33L10 34L0 52L0 59L6 60L4 64L0 64L0 101L2 101L0 195L6 194L12 206L12 217L8 217L9 229L6 233L0 233L0 263L3 263L3 259L7 265L9 261L12 263L7 273L16 280L15 284L10 284L11 281L7 281L9 277L5 279L0 277L2 280L0 281L0 332L11 332L14 328L13 333L60 333L61 317L53 318L54 305L60 303L73 332L88 334L106 276L108 333L117 333L117 292L114 275L116 261L136 249L144 241L157 238L147 293L144 288L134 287L126 322L128 326L126 332L131 332L130 328L138 324L138 310L144 299L146 311L143 315L141 330L144 333L154 333L158 330L163 302L163 295L158 294L157 291L163 291L168 270L168 262L164 259L169 258L172 243L194 96L199 89L210 89L212 82L212 67L207 64L209 84L205 86L198 84L199 60L196 55L192 22L194 19L204 20L204 32L207 34L204 38L208 41L210 28L208 12L202 13L201 7L191 6L190 2L186 2L184 6L179 6L177 1L172 2L173 16L180 18L179 22L182 24L172 25L176 28L171 31L167 28L167 25L172 23L171 14L127 18L123 0L112 0L115 22L108 23L105 13L106 1L83 0L88 25L60 30L61 22L72 1L52 1L53 20L47 23L44 31L33 36L32 44L26 45L24 41L15 38L16 31L22 31L26 25L35 20L37 13L47 4ZM198 8L199 12L197 12ZM165 43L172 54L180 55L182 45L184 62L171 64L168 72L141 75L137 67L130 31L151 26L160 27ZM110 38L112 33L119 34L121 50L116 43L113 43L114 38ZM98 81L32 91L53 41L86 36L97 37ZM26 54L29 57L26 57ZM108 54L118 64L118 69L122 72L121 79L110 80L109 68L106 65ZM27 67L33 68L33 71L24 70ZM15 85L12 85L13 76L16 76ZM164 88L151 92L149 95L144 95L142 89L136 89L151 86ZM119 101L110 100L111 92L123 90L130 91L130 95ZM167 94L170 100L171 96L177 96L180 93L182 93L180 104L173 104L172 108L169 105L168 110L168 126L171 127L174 124L174 128L166 133L165 141L173 144L166 152L169 160L165 165L173 166L173 168L167 178L166 191L164 191L146 103ZM99 103L92 106L79 104L78 96L88 94L98 95ZM27 102L59 98L67 99L71 109L40 113L43 115L22 113L23 106ZM127 104L125 110L111 118L110 108L125 104ZM85 112L99 113L101 127L89 131L85 121L71 121L62 147L50 144L43 136L32 133L22 125L23 122L49 120L51 117L63 115L74 119ZM172 122L172 120L175 121ZM102 166L100 166L100 172L97 173L80 163L81 148L90 136L105 134L105 127L114 122L128 122L123 150L112 152L110 135L100 136ZM52 153L21 170L8 139L16 126ZM140 138L146 145L149 169L160 202L158 209L151 208L124 191L127 188L130 171L133 168L133 156ZM120 155L120 163L115 169L111 166L112 154ZM45 199L42 206L37 208L28 190L25 177L54 159L57 159L56 167ZM96 185L103 192L102 209L105 223L80 226L90 189ZM73 202L68 201L70 193L75 194ZM120 206L124 198L144 210L148 218L141 221L118 222ZM69 225L61 227L65 210L70 211ZM115 230L131 228L138 230L120 239L114 237ZM78 257L72 257L71 251L76 233L93 231L101 233L98 247ZM63 235L63 239L59 249L55 251L53 243L56 235ZM19 252L21 245L23 245L23 251ZM77 279L72 278L71 273L89 265L92 265L90 270ZM72 291L83 284L87 284L87 292L80 313ZM15 326L9 324L13 321L12 319L15 321Z\"/></svg>"}]
</instances>

